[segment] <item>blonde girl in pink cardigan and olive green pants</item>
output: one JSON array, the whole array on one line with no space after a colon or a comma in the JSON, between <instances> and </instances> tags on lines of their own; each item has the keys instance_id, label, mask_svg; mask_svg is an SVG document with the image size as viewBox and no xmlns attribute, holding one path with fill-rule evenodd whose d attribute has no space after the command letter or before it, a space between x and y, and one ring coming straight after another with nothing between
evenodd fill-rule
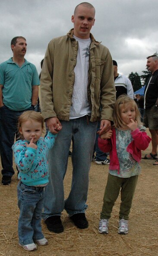
<instances>
[{"instance_id":1,"label":"blonde girl in pink cardigan and olive green pants","mask_svg":"<svg viewBox=\"0 0 158 256\"><path fill-rule=\"evenodd\" d=\"M127 95L117 98L114 106L114 127L98 139L103 152L110 152L110 166L99 221L99 233L108 233L108 222L119 193L119 234L128 233L128 219L132 200L141 172L141 150L150 143L145 127L140 122L136 102Z\"/></svg>"}]
</instances>

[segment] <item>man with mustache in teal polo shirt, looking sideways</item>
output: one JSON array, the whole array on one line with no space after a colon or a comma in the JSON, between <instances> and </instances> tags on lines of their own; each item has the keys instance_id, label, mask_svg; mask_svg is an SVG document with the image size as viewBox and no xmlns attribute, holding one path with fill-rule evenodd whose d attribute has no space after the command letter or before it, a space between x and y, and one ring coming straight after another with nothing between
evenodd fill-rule
<instances>
[{"instance_id":1,"label":"man with mustache in teal polo shirt, looking sideways","mask_svg":"<svg viewBox=\"0 0 158 256\"><path fill-rule=\"evenodd\" d=\"M13 58L0 64L0 157L2 184L10 185L14 175L13 152L17 120L25 110L34 110L40 84L35 65L24 56L26 39L16 36L11 41Z\"/></svg>"}]
</instances>

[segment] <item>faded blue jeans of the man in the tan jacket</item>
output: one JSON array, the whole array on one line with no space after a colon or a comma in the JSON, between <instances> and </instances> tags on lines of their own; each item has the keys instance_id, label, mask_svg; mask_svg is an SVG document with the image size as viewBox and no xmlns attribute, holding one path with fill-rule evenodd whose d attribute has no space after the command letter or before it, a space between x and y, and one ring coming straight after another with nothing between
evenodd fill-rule
<instances>
[{"instance_id":1,"label":"faded blue jeans of the man in the tan jacket","mask_svg":"<svg viewBox=\"0 0 158 256\"><path fill-rule=\"evenodd\" d=\"M70 216L84 213L87 208L88 175L97 122L89 122L88 116L60 122L63 128L48 155L50 176L45 188L44 212L42 213L44 220L53 215L61 215L64 208ZM73 178L70 194L64 200L63 179L66 174L71 140L73 142Z\"/></svg>"}]
</instances>

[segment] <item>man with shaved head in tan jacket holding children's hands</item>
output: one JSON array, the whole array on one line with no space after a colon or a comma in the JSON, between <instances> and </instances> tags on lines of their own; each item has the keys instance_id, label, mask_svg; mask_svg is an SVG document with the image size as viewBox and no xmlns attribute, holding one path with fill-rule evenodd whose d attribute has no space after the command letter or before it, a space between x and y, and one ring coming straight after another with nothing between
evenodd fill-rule
<instances>
[{"instance_id":1,"label":"man with shaved head in tan jacket holding children's hands","mask_svg":"<svg viewBox=\"0 0 158 256\"><path fill-rule=\"evenodd\" d=\"M49 152L50 182L45 188L43 219L48 230L63 232L60 216L65 209L80 229L88 227L88 174L99 134L111 128L116 98L113 62L109 50L90 33L95 8L84 2L71 17L74 28L66 36L49 42L41 71L42 115L52 133L58 133ZM73 177L70 194L64 199L71 141Z\"/></svg>"}]
</instances>

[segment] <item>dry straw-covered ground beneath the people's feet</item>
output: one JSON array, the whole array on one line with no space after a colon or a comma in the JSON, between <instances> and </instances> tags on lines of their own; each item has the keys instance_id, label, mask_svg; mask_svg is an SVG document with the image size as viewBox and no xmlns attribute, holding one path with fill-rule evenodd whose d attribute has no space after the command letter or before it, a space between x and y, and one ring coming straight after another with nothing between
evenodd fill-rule
<instances>
[{"instance_id":1,"label":"dry straw-covered ground beneath the people's feet","mask_svg":"<svg viewBox=\"0 0 158 256\"><path fill-rule=\"evenodd\" d=\"M151 151L151 144L145 153ZM86 216L89 227L79 230L74 227L66 212L62 214L64 232L49 232L42 221L47 246L38 246L34 252L26 252L18 246L16 175L10 186L0 184L0 256L157 256L158 255L158 166L154 160L141 161L142 174L139 176L133 207L130 213L129 233L117 234L118 198L109 223L109 234L98 233L98 221L102 198L107 181L108 166L92 162L89 175L88 209ZM1 167L1 166L0 166ZM72 165L69 158L64 180L65 197L70 191ZM1 179L1 174L0 174Z\"/></svg>"}]
</instances>

